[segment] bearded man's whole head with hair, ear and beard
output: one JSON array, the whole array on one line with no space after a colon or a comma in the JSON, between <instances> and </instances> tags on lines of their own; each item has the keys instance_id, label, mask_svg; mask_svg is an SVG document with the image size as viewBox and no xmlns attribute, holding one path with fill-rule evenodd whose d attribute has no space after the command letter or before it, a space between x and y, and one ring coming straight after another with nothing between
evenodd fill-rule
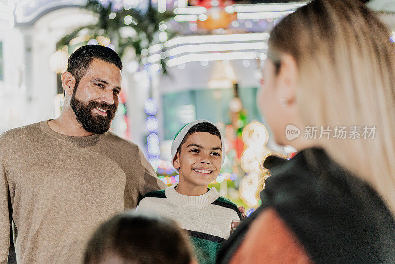
<instances>
[{"instance_id":1,"label":"bearded man's whole head with hair, ear and beard","mask_svg":"<svg viewBox=\"0 0 395 264\"><path fill-rule=\"evenodd\" d=\"M70 103L85 131L103 134L109 130L118 108L121 70L119 56L108 47L82 46L69 57L67 71L62 74L65 106Z\"/></svg>"}]
</instances>

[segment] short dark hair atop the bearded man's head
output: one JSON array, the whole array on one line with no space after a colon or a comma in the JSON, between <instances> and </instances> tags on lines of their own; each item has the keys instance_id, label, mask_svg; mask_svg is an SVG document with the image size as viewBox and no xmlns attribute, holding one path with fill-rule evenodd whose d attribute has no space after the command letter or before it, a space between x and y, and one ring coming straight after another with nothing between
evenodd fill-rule
<instances>
[{"instance_id":1,"label":"short dark hair atop the bearded man's head","mask_svg":"<svg viewBox=\"0 0 395 264\"><path fill-rule=\"evenodd\" d=\"M114 50L101 45L82 46L70 55L67 62L67 71L76 79L77 88L93 59L103 60L114 64L122 70L122 61Z\"/></svg>"}]
</instances>

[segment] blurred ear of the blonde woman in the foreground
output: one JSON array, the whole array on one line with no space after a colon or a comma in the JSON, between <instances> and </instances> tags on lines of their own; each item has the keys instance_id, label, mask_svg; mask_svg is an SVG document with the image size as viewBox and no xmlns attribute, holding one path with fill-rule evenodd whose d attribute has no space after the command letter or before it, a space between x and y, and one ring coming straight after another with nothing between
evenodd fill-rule
<instances>
[{"instance_id":1,"label":"blurred ear of the blonde woman in the foreground","mask_svg":"<svg viewBox=\"0 0 395 264\"><path fill-rule=\"evenodd\" d=\"M287 105L295 103L298 83L298 66L295 58L291 55L284 54L281 57L277 80L279 99L286 99Z\"/></svg>"}]
</instances>

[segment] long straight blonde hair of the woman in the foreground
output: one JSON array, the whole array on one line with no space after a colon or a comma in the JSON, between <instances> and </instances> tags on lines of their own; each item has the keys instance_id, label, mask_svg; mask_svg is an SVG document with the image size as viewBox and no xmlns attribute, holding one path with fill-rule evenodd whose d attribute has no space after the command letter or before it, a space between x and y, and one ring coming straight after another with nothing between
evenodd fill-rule
<instances>
[{"instance_id":1,"label":"long straight blonde hair of the woman in the foreground","mask_svg":"<svg viewBox=\"0 0 395 264\"><path fill-rule=\"evenodd\" d=\"M356 0L314 0L276 25L269 50L296 60L305 125L376 126L374 139L316 143L373 186L395 216L395 53L386 26Z\"/></svg>"}]
</instances>

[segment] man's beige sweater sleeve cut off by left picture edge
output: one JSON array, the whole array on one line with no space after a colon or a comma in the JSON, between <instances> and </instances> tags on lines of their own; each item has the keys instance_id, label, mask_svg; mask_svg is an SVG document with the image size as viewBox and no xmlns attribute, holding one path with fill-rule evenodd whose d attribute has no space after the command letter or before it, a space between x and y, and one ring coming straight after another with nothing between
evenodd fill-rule
<instances>
[{"instance_id":1,"label":"man's beige sweater sleeve cut off by left picture edge","mask_svg":"<svg viewBox=\"0 0 395 264\"><path fill-rule=\"evenodd\" d=\"M10 241L8 181L0 149L0 264L7 264Z\"/></svg>"}]
</instances>

